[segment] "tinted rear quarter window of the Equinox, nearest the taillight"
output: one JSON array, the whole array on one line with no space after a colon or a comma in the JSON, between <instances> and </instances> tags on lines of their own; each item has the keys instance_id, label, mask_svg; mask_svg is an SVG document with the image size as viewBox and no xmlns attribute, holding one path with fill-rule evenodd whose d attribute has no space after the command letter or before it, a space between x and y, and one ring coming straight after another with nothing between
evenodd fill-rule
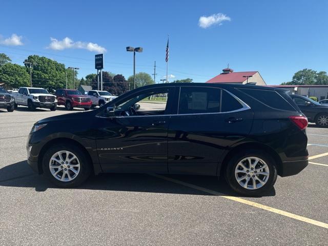
<instances>
[{"instance_id":1,"label":"tinted rear quarter window of the Equinox, nearest the taillight","mask_svg":"<svg viewBox=\"0 0 328 246\"><path fill-rule=\"evenodd\" d=\"M276 91L256 90L256 89L239 89L250 95L254 99L260 101L271 108L280 110L295 110L282 96Z\"/></svg>"}]
</instances>

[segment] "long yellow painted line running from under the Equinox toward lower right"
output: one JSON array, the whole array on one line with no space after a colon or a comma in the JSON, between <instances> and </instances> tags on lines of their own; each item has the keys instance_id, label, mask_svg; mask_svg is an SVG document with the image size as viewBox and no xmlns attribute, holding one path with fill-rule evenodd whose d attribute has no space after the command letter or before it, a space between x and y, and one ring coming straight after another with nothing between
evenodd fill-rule
<instances>
[{"instance_id":1,"label":"long yellow painted line running from under the Equinox toward lower right","mask_svg":"<svg viewBox=\"0 0 328 246\"><path fill-rule=\"evenodd\" d=\"M324 222L320 222L320 221L317 221L317 220L313 220L313 219L309 219L309 218L306 218L306 217L303 217L303 216L299 216L299 215L296 215L296 214L285 212L285 211L280 210L280 209L271 208L269 206L265 206L265 205L262 205L260 203L245 200L245 199L242 199L242 198L239 198L239 197L224 196L222 193L219 193L219 192L216 192L216 191L213 191L213 190L209 190L209 189L206 189L206 188L202 188L202 187L199 187L199 186L195 186L195 185L192 185L191 183L186 183L186 182L183 182L183 181L180 181L180 180L177 180L177 179L165 177L165 176L158 175L158 174L150 174L150 175L154 176L154 177L157 177L157 178L165 179L167 181L178 183L179 185L186 186L186 187L189 187L189 188L193 188L195 190L203 191L203 192L206 192L206 193L209 193L209 194L212 194L212 195L220 196L220 197L223 197L223 198L226 198L226 199L229 199L229 200L233 200L233 201L237 201L237 202L240 202L240 203L243 203L243 204L247 204L249 206L253 206L255 208L267 210L267 211L270 211L270 212L273 212L273 213L276 213L276 214L280 214L280 215L283 215L283 216L286 216L286 217L289 217L289 218L292 218L292 219L300 220L300 221L303 221L303 222L306 222L306 223L314 224L315 226L318 226L318 227L323 227L325 229L328 229L328 224L324 223Z\"/></svg>"}]
</instances>

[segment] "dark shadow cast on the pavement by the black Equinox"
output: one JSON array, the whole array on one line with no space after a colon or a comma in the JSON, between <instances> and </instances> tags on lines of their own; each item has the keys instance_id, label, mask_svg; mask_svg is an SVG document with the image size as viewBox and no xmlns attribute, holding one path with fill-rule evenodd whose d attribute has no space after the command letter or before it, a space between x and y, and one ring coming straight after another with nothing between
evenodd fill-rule
<instances>
[{"instance_id":1,"label":"dark shadow cast on the pavement by the black Equinox","mask_svg":"<svg viewBox=\"0 0 328 246\"><path fill-rule=\"evenodd\" d=\"M164 179L160 177L164 177ZM223 179L218 180L214 176L161 174L160 177L152 174L106 173L93 175L83 185L71 189L212 195L203 190L208 189L224 196L241 197L233 192ZM165 178L174 179L180 183ZM200 189L183 186L181 182L197 186ZM38 192L46 191L48 188L58 189L46 177L34 173L26 160L1 168L0 186L35 188L35 191ZM275 195L276 192L273 189L264 196Z\"/></svg>"}]
</instances>

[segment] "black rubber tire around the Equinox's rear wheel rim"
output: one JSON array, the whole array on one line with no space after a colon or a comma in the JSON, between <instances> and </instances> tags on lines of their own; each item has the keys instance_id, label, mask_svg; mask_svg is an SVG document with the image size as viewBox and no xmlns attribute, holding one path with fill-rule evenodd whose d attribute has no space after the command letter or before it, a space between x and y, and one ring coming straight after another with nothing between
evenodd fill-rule
<instances>
[{"instance_id":1,"label":"black rubber tire around the Equinox's rear wheel rim","mask_svg":"<svg viewBox=\"0 0 328 246\"><path fill-rule=\"evenodd\" d=\"M255 161L259 159L255 167L253 167L253 170L251 170L251 167L249 166L249 159L245 159L248 157L251 159L253 165ZM242 165L240 165L240 163L245 169ZM256 169L261 170L256 171ZM243 173L244 171L245 173ZM255 171L257 173L265 173L265 175L256 174ZM239 177L239 181L237 181L237 177ZM258 179L260 179L263 183L261 183ZM262 150L242 151L229 160L226 169L226 180L229 186L239 194L245 196L261 196L272 190L277 180L275 161L270 154ZM247 182L247 180L249 181ZM255 186L253 180L255 180ZM245 188L246 182L247 188Z\"/></svg>"}]
</instances>

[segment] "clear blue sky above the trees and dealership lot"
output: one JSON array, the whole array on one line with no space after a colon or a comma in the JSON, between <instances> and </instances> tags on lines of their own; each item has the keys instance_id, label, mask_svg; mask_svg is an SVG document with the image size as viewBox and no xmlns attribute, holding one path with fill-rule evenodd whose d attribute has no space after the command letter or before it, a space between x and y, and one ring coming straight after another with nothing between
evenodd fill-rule
<instances>
[{"instance_id":1,"label":"clear blue sky above the trees and dealership lot","mask_svg":"<svg viewBox=\"0 0 328 246\"><path fill-rule=\"evenodd\" d=\"M166 74L168 34L171 81L204 82L228 63L234 71L259 71L272 85L290 81L303 68L328 70L324 0L11 0L1 6L0 53L17 64L29 54L44 55L79 67L78 77L95 73L94 55L101 49L107 50L104 70L128 77L133 56L125 47L141 46L136 72L152 74L156 60L158 81ZM200 23L201 16L206 18ZM63 44L65 37L71 41Z\"/></svg>"}]
</instances>

